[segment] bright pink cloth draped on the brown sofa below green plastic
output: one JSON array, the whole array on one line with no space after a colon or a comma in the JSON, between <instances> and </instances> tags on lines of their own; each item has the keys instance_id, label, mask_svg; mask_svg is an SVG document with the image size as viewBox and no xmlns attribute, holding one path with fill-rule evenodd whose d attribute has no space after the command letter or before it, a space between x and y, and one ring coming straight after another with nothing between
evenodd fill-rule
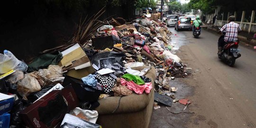
<instances>
[{"instance_id":1,"label":"bright pink cloth draped on the brown sofa below green plastic","mask_svg":"<svg viewBox=\"0 0 256 128\"><path fill-rule=\"evenodd\" d=\"M125 79L121 78L121 84L123 86L126 86L129 90L134 91L137 94L142 94L144 91L146 93L150 93L152 89L152 83L151 82L145 82L144 85L138 85L133 81L126 81Z\"/></svg>"}]
</instances>

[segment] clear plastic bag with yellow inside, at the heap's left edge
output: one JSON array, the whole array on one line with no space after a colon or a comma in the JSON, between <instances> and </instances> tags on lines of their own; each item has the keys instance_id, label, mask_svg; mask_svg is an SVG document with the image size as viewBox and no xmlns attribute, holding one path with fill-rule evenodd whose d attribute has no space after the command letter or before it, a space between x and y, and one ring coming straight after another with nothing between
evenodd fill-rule
<instances>
[{"instance_id":1,"label":"clear plastic bag with yellow inside, at the heap's left edge","mask_svg":"<svg viewBox=\"0 0 256 128\"><path fill-rule=\"evenodd\" d=\"M10 70L27 71L27 64L19 61L10 51L4 50L4 54L0 54L0 74L7 73Z\"/></svg>"}]
</instances>

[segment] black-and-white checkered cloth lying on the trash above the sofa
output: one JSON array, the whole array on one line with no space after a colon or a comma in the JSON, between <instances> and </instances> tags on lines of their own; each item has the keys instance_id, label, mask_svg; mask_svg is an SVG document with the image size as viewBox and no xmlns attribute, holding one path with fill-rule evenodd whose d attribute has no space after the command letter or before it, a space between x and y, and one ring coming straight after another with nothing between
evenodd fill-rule
<instances>
[{"instance_id":1,"label":"black-and-white checkered cloth lying on the trash above the sofa","mask_svg":"<svg viewBox=\"0 0 256 128\"><path fill-rule=\"evenodd\" d=\"M95 78L98 80L101 86L103 86L103 91L107 94L110 93L114 84L116 83L116 79L112 78L109 75L97 74Z\"/></svg>"}]
</instances>

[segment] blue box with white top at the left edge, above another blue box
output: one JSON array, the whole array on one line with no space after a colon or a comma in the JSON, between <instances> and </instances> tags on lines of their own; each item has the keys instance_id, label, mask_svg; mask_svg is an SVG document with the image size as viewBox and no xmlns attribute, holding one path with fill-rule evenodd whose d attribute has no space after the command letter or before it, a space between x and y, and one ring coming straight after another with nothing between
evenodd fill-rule
<instances>
[{"instance_id":1,"label":"blue box with white top at the left edge, above another blue box","mask_svg":"<svg viewBox=\"0 0 256 128\"><path fill-rule=\"evenodd\" d=\"M14 97L0 93L0 115L9 112L13 106Z\"/></svg>"}]
</instances>

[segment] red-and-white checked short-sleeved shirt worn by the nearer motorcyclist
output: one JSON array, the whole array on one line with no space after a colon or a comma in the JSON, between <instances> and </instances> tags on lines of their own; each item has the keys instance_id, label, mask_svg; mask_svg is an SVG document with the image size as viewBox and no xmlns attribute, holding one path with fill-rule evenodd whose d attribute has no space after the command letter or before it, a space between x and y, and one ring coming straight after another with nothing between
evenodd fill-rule
<instances>
[{"instance_id":1,"label":"red-and-white checked short-sleeved shirt worn by the nearer motorcyclist","mask_svg":"<svg viewBox=\"0 0 256 128\"><path fill-rule=\"evenodd\" d=\"M235 23L235 22L230 22L226 25L224 25L221 29L221 32L225 31L225 37L224 37L224 41L228 42L228 41L233 41L233 40L237 40L238 39L238 31L241 31L241 28L239 27L239 24Z\"/></svg>"}]
</instances>

